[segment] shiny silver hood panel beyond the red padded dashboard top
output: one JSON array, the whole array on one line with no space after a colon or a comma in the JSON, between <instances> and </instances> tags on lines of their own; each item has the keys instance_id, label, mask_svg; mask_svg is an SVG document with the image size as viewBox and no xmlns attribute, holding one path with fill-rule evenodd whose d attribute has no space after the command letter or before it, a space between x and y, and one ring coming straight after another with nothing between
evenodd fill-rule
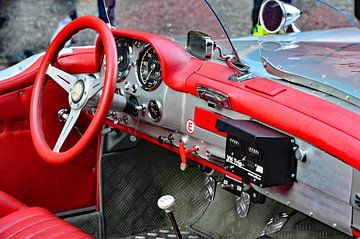
<instances>
[{"instance_id":1,"label":"shiny silver hood panel beyond the red padded dashboard top","mask_svg":"<svg viewBox=\"0 0 360 239\"><path fill-rule=\"evenodd\" d=\"M357 106L360 106L359 43L357 27L259 38L260 54L272 66L271 74Z\"/></svg>"}]
</instances>

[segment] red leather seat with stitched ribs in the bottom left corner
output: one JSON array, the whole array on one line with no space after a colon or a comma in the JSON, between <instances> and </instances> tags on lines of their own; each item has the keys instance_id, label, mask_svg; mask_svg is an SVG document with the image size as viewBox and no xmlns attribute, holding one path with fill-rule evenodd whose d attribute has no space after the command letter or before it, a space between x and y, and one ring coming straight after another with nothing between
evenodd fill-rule
<instances>
[{"instance_id":1,"label":"red leather seat with stitched ribs in the bottom left corner","mask_svg":"<svg viewBox=\"0 0 360 239\"><path fill-rule=\"evenodd\" d=\"M0 239L87 239L79 228L40 207L28 207L0 191Z\"/></svg>"}]
</instances>

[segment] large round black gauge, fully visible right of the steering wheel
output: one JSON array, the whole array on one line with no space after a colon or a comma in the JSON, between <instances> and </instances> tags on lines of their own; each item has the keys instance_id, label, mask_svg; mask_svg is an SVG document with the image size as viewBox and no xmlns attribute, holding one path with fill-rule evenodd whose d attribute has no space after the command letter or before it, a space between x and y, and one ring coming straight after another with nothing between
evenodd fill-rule
<instances>
[{"instance_id":1,"label":"large round black gauge, fully visible right of the steering wheel","mask_svg":"<svg viewBox=\"0 0 360 239\"><path fill-rule=\"evenodd\" d=\"M138 78L141 87L146 91L156 90L162 81L160 61L154 48L146 46L140 53Z\"/></svg>"}]
</instances>

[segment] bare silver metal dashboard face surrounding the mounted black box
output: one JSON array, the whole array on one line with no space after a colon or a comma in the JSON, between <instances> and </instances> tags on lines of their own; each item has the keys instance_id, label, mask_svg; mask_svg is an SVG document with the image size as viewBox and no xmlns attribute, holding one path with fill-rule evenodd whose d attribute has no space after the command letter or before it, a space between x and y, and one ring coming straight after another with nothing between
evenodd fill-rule
<instances>
[{"instance_id":1,"label":"bare silver metal dashboard face surrounding the mounted black box","mask_svg":"<svg viewBox=\"0 0 360 239\"><path fill-rule=\"evenodd\" d=\"M162 91L160 93L160 91ZM224 158L225 137L195 126L193 134L186 131L186 121L194 119L195 107L202 107L212 112L233 119L250 119L250 117L225 108L210 108L207 102L190 94L176 92L168 87L156 90L163 107L163 118L159 123L147 119L147 114L137 120L128 116L128 127L157 138L174 135L172 145L178 147L181 139L187 147L199 146L197 155L208 161L211 156ZM139 102L147 98L140 96ZM119 116L124 113L119 113ZM144 122L146 121L146 122ZM151 123L150 123L151 122ZM352 206L349 198L352 185L352 168L331 155L295 138L296 144L306 152L306 162L299 162L297 181L291 187L271 187L256 189L285 205L311 215L346 234L351 234ZM169 143L169 142L168 142Z\"/></svg>"}]
</instances>

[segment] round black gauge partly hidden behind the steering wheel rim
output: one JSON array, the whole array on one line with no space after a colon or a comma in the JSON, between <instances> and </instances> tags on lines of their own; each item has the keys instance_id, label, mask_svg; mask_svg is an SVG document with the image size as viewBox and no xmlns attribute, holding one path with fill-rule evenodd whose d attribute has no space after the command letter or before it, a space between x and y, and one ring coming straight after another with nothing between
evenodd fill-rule
<instances>
[{"instance_id":1,"label":"round black gauge partly hidden behind the steering wheel rim","mask_svg":"<svg viewBox=\"0 0 360 239\"><path fill-rule=\"evenodd\" d=\"M132 47L131 43L125 39L116 40L118 51L118 82L123 81L130 72Z\"/></svg>"}]
</instances>

